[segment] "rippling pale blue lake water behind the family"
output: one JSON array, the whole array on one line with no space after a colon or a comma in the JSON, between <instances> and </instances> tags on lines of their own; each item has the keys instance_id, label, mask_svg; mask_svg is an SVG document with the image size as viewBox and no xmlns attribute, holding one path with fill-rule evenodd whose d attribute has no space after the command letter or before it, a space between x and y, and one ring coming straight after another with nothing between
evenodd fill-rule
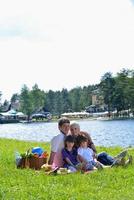
<instances>
[{"instance_id":1,"label":"rippling pale blue lake water behind the family","mask_svg":"<svg viewBox=\"0 0 134 200\"><path fill-rule=\"evenodd\" d=\"M96 145L134 146L134 120L79 121ZM57 123L0 124L0 137L28 141L50 141L57 135Z\"/></svg>"}]
</instances>

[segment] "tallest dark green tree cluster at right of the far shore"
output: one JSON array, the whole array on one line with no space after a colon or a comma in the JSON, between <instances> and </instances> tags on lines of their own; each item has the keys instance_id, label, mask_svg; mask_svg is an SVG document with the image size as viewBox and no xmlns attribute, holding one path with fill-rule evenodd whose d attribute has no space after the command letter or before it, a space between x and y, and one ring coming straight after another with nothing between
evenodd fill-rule
<instances>
[{"instance_id":1,"label":"tallest dark green tree cluster at right of the far shore","mask_svg":"<svg viewBox=\"0 0 134 200\"><path fill-rule=\"evenodd\" d=\"M134 72L123 69L115 77L106 73L101 80L100 88L108 110L134 110Z\"/></svg>"}]
</instances>

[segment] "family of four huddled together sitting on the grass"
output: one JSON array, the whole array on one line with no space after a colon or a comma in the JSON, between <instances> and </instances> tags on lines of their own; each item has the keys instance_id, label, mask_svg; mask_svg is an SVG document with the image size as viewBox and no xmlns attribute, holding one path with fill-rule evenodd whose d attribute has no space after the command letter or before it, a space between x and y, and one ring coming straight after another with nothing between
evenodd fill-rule
<instances>
[{"instance_id":1,"label":"family of four huddled together sitting on the grass","mask_svg":"<svg viewBox=\"0 0 134 200\"><path fill-rule=\"evenodd\" d=\"M51 140L51 153L48 164L53 169L66 168L70 172L81 170L83 172L103 169L107 166L128 165L132 162L130 156L125 157L127 150L122 151L116 157L106 152L97 154L96 147L86 132L80 130L77 122L70 123L69 119L59 119L60 133Z\"/></svg>"}]
</instances>

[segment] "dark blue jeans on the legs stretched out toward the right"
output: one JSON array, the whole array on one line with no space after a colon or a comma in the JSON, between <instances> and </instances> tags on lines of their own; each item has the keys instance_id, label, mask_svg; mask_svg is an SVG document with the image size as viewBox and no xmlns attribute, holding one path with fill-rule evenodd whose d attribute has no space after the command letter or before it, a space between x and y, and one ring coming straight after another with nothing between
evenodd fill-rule
<instances>
[{"instance_id":1,"label":"dark blue jeans on the legs stretched out toward the right","mask_svg":"<svg viewBox=\"0 0 134 200\"><path fill-rule=\"evenodd\" d=\"M114 158L106 152L99 153L97 160L103 165L112 165L114 162Z\"/></svg>"}]
</instances>

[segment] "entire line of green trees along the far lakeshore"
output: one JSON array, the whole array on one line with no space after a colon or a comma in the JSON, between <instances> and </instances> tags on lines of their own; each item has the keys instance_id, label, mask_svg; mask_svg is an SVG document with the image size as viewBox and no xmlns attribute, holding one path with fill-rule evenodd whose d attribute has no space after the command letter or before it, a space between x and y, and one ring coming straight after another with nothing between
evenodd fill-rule
<instances>
[{"instance_id":1,"label":"entire line of green trees along the far lakeshore","mask_svg":"<svg viewBox=\"0 0 134 200\"><path fill-rule=\"evenodd\" d=\"M60 116L64 112L79 112L92 104L92 94L99 91L101 102L110 111L131 110L134 113L134 70L122 69L115 76L111 72L105 73L100 84L76 87L71 90L63 88L61 91L49 90L44 92L35 84L30 90L26 85L20 94L13 94L11 104L20 101L21 111L27 115L38 112L42 108L53 115ZM0 93L0 97L1 97Z\"/></svg>"}]
</instances>

